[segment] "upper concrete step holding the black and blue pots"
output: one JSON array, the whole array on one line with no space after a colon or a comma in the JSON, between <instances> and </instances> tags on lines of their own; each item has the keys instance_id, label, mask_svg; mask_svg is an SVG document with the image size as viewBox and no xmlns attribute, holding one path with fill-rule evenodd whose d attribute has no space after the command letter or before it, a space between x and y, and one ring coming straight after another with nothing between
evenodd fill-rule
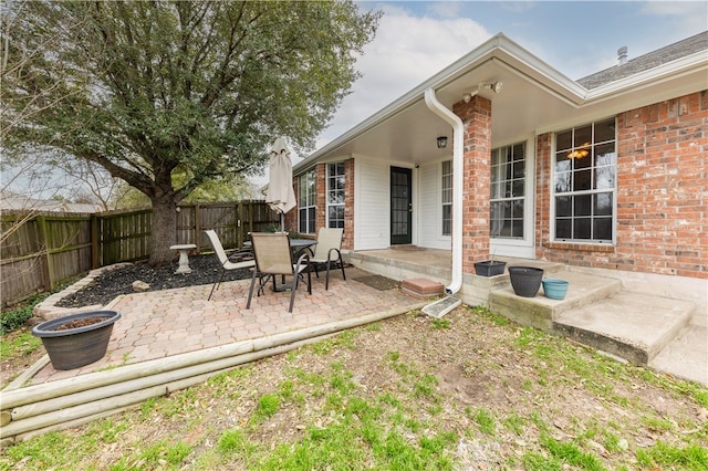
<instances>
[{"instance_id":1,"label":"upper concrete step holding the black and blue pots","mask_svg":"<svg viewBox=\"0 0 708 471\"><path fill-rule=\"evenodd\" d=\"M545 297L543 286L535 297L521 297L514 294L510 283L504 283L489 293L491 311L520 324L553 332L553 321L562 313L611 296L622 287L620 280L569 270L545 271L544 276L569 282L565 299Z\"/></svg>"}]
</instances>

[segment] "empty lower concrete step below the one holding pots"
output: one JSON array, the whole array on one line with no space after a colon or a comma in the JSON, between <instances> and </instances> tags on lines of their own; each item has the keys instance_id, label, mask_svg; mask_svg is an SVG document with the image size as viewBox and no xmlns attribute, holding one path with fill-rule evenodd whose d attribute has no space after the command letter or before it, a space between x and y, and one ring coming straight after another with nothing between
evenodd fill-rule
<instances>
[{"instance_id":1,"label":"empty lower concrete step below the one holding pots","mask_svg":"<svg viewBox=\"0 0 708 471\"><path fill-rule=\"evenodd\" d=\"M553 329L637 364L650 364L689 325L687 301L621 292L560 313Z\"/></svg>"}]
</instances>

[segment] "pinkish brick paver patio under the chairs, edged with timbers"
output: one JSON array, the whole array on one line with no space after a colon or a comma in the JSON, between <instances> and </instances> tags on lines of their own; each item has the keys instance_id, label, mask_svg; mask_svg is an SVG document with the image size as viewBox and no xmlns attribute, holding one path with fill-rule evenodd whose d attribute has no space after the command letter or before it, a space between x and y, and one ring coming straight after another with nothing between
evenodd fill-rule
<instances>
[{"instance_id":1,"label":"pinkish brick paver patio under the chairs, edged with timbers","mask_svg":"<svg viewBox=\"0 0 708 471\"><path fill-rule=\"evenodd\" d=\"M42 368L32 384L80 376L110 367L164 358L240 341L282 334L300 328L350 320L378 312L405 313L425 303L398 289L379 291L356 279L369 273L347 270L347 280L312 278L312 295L299 286L292 313L288 312L290 293L267 289L253 294L246 308L250 280L222 283L207 301L211 285L133 293L116 299L106 308L122 318L114 326L108 352L98 362L71 370Z\"/></svg>"}]
</instances>

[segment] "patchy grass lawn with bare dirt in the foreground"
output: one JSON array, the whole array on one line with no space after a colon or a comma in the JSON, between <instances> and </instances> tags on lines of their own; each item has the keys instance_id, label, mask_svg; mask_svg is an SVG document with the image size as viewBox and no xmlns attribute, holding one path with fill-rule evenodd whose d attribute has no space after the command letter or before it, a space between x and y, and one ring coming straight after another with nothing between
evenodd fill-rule
<instances>
[{"instance_id":1,"label":"patchy grass lawn with bare dirt in the foreground","mask_svg":"<svg viewBox=\"0 0 708 471\"><path fill-rule=\"evenodd\" d=\"M31 438L0 469L706 470L708 389L460 306Z\"/></svg>"}]
</instances>

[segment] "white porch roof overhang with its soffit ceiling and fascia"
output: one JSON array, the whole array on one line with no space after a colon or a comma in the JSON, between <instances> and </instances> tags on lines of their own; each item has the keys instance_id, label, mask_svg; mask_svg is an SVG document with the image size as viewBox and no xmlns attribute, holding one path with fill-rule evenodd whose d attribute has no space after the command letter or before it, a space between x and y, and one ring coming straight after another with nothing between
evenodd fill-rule
<instances>
[{"instance_id":1,"label":"white porch roof overhang with its soffit ceiling and fascia","mask_svg":"<svg viewBox=\"0 0 708 471\"><path fill-rule=\"evenodd\" d=\"M497 147L702 90L706 61L696 66L691 60L686 60L689 65L684 70L681 64L667 64L666 71L587 91L499 35L317 150L296 169L343 156L410 165L451 156L452 128L425 105L428 87L451 108L465 93L477 90L478 83L501 81L499 94L489 88L479 93L492 103L491 138ZM438 136L448 136L447 148L437 148Z\"/></svg>"}]
</instances>

